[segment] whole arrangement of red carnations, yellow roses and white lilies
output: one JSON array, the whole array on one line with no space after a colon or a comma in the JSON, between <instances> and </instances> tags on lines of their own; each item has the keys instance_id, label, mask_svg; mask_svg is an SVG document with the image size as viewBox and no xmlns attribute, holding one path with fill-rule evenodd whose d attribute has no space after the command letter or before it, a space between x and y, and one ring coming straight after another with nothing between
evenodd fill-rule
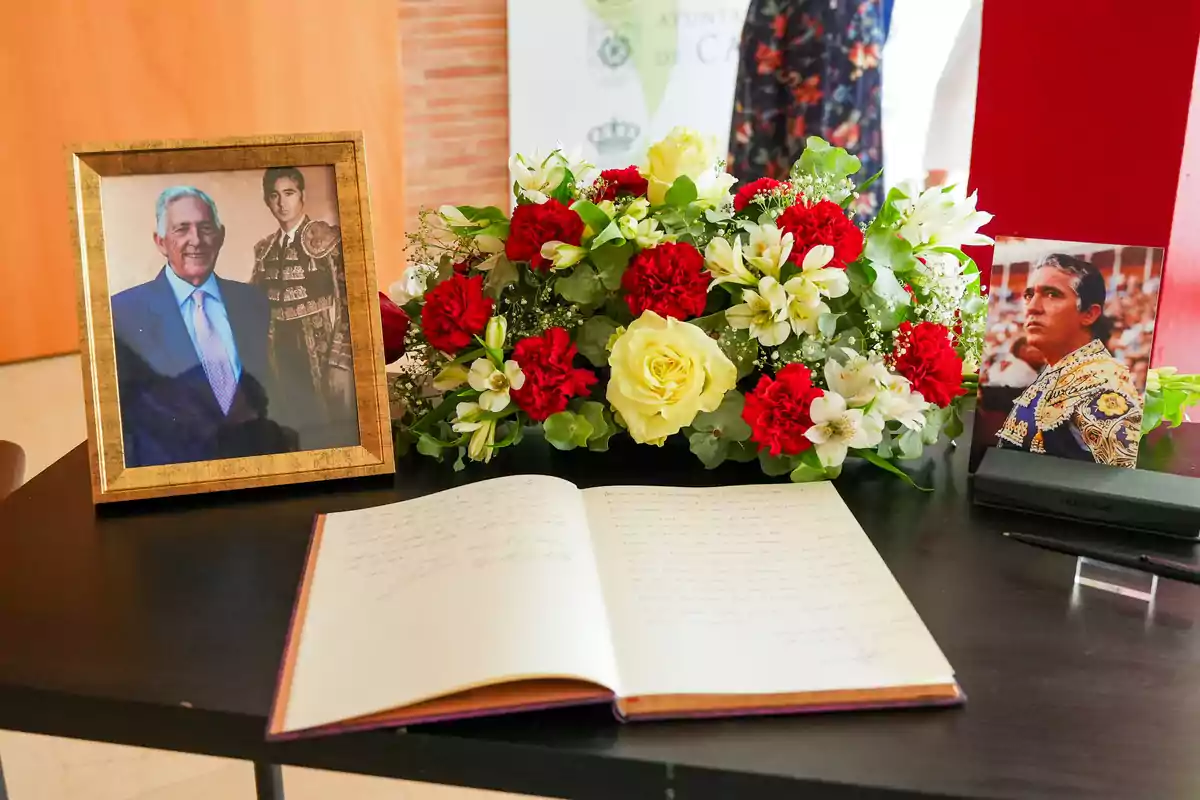
<instances>
[{"instance_id":1,"label":"whole arrangement of red carnations, yellow roses and white lilies","mask_svg":"<svg viewBox=\"0 0 1200 800\"><path fill-rule=\"evenodd\" d=\"M562 450L683 437L708 468L811 481L847 457L905 476L962 431L986 308L961 248L991 243L974 197L894 188L859 222L845 150L811 138L787 181L734 191L685 128L643 167L509 167L511 216L426 211L384 303L402 450L462 468L536 427Z\"/></svg>"}]
</instances>

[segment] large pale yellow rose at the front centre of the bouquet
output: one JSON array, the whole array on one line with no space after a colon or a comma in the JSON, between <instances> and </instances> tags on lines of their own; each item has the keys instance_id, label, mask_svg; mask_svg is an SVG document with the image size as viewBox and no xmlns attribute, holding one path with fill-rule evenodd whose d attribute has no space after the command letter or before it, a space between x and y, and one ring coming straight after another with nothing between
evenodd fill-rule
<instances>
[{"instance_id":1,"label":"large pale yellow rose at the front centre of the bouquet","mask_svg":"<svg viewBox=\"0 0 1200 800\"><path fill-rule=\"evenodd\" d=\"M660 445L714 411L738 371L704 331L673 317L644 312L612 347L608 403L634 441Z\"/></svg>"}]
</instances>

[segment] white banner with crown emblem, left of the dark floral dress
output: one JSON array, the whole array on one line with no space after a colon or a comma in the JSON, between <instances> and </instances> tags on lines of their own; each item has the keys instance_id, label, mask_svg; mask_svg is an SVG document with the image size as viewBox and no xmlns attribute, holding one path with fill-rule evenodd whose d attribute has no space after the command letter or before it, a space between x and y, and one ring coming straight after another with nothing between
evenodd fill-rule
<instances>
[{"instance_id":1,"label":"white banner with crown emblem, left of the dark floral dress","mask_svg":"<svg viewBox=\"0 0 1200 800\"><path fill-rule=\"evenodd\" d=\"M685 125L726 152L749 0L509 0L509 144L640 163Z\"/></svg>"}]
</instances>

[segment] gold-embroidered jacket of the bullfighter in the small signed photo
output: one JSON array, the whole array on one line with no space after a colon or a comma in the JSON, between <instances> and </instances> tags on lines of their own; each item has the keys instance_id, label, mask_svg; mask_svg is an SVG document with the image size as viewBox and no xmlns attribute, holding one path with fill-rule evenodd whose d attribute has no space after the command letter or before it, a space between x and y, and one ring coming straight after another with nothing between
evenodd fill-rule
<instances>
[{"instance_id":1,"label":"gold-embroidered jacket of the bullfighter in the small signed photo","mask_svg":"<svg viewBox=\"0 0 1200 800\"><path fill-rule=\"evenodd\" d=\"M1141 413L1129 369L1092 339L1042 371L997 437L1001 447L1133 468Z\"/></svg>"}]
</instances>

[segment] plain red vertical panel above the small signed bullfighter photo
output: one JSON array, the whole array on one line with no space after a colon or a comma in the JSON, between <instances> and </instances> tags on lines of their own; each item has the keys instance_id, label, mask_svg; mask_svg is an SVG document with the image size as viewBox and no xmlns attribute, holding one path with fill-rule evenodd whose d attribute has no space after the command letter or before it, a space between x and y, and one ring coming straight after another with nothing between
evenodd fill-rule
<instances>
[{"instance_id":1,"label":"plain red vertical panel above the small signed bullfighter photo","mask_svg":"<svg viewBox=\"0 0 1200 800\"><path fill-rule=\"evenodd\" d=\"M1198 44L1194 0L985 4L971 184L988 233L1165 247ZM1200 260L1169 260L1200 282Z\"/></svg>"}]
</instances>

